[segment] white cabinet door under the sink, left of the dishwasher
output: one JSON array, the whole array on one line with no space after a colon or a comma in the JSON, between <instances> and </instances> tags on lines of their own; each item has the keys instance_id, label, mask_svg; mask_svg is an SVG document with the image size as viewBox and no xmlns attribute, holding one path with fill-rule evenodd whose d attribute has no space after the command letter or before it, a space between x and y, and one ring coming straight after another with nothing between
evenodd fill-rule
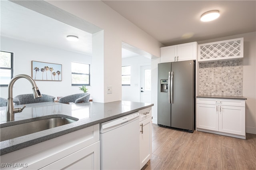
<instances>
[{"instance_id":1,"label":"white cabinet door under the sink, left of the dishwasher","mask_svg":"<svg viewBox=\"0 0 256 170\"><path fill-rule=\"evenodd\" d=\"M70 154L40 170L98 170L100 169L100 141Z\"/></svg>"}]
</instances>

